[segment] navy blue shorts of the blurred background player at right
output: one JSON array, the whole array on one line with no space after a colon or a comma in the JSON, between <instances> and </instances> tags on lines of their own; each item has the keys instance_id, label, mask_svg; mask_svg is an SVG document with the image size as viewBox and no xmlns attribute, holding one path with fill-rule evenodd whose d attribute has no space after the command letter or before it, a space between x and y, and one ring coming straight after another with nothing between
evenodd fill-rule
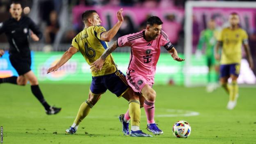
<instances>
[{"instance_id":1,"label":"navy blue shorts of the blurred background player at right","mask_svg":"<svg viewBox=\"0 0 256 144\"><path fill-rule=\"evenodd\" d=\"M238 76L240 72L240 64L221 64L220 77L229 77L231 74Z\"/></svg>"}]
</instances>

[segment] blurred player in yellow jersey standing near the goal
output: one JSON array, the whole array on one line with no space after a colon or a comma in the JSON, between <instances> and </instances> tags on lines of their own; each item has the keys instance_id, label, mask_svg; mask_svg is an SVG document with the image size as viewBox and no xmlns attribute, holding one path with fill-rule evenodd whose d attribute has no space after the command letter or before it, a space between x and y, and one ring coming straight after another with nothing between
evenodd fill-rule
<instances>
[{"instance_id":1,"label":"blurred player in yellow jersey standing near the goal","mask_svg":"<svg viewBox=\"0 0 256 144\"><path fill-rule=\"evenodd\" d=\"M222 87L229 94L229 103L227 109L233 110L238 98L237 78L240 71L240 62L242 59L242 45L245 48L249 66L253 69L250 48L248 45L248 35L245 30L239 27L239 16L237 13L229 15L230 26L222 30L215 47L215 58L220 59L220 82ZM222 55L218 54L219 47L222 46ZM231 85L228 85L228 79L231 78Z\"/></svg>"}]
</instances>

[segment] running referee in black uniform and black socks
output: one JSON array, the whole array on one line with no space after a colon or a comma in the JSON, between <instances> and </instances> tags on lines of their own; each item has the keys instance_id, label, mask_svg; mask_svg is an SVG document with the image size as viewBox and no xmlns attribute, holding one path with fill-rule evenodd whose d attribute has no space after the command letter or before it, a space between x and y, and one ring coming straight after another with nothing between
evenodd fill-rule
<instances>
[{"instance_id":1,"label":"running referee in black uniform and black socks","mask_svg":"<svg viewBox=\"0 0 256 144\"><path fill-rule=\"evenodd\" d=\"M61 108L50 106L46 102L39 88L37 77L30 69L31 55L28 42L29 37L34 41L39 41L42 37L42 33L39 31L39 27L37 27L29 17L21 16L21 3L13 2L9 11L11 13L11 18L0 23L0 34L5 32L7 36L10 46L9 59L11 65L16 69L19 76L0 78L0 84L7 82L15 85L26 85L28 80L31 85L32 93L43 105L46 110L46 114L57 114ZM32 30L31 35L29 30ZM0 57L2 57L3 54L4 51L0 50Z\"/></svg>"}]
</instances>

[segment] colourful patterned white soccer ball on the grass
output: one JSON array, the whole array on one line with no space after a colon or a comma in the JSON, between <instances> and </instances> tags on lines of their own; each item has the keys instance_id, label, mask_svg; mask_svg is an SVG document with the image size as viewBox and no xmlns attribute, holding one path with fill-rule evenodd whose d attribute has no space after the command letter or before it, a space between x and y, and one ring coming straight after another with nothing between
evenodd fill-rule
<instances>
[{"instance_id":1,"label":"colourful patterned white soccer ball on the grass","mask_svg":"<svg viewBox=\"0 0 256 144\"><path fill-rule=\"evenodd\" d=\"M177 121L172 127L172 132L177 138L187 138L191 133L190 124L187 121Z\"/></svg>"}]
</instances>

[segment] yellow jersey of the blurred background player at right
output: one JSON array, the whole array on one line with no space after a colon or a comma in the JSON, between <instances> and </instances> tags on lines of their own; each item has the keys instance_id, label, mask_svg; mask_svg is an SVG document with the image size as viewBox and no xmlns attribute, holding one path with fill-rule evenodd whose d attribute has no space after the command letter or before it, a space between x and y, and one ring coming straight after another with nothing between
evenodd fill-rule
<instances>
[{"instance_id":1,"label":"yellow jersey of the blurred background player at right","mask_svg":"<svg viewBox=\"0 0 256 144\"><path fill-rule=\"evenodd\" d=\"M238 28L231 30L224 28L218 41L223 43L220 64L240 64L242 59L242 43L248 43L248 35L245 30Z\"/></svg>"}]
</instances>

